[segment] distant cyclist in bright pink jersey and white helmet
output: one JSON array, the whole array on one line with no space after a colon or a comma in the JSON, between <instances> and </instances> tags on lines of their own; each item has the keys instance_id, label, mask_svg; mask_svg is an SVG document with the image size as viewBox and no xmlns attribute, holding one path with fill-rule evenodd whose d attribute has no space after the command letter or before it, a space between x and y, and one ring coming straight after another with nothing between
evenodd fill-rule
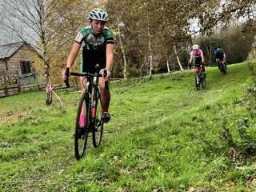
<instances>
[{"instance_id":1,"label":"distant cyclist in bright pink jersey and white helmet","mask_svg":"<svg viewBox=\"0 0 256 192\"><path fill-rule=\"evenodd\" d=\"M191 51L191 54L190 54L190 65L193 61L193 58L194 58L194 64L202 65L203 62L204 62L202 50L199 49L198 45L192 46L192 49L193 50ZM198 70L198 67L199 66L196 66L196 70ZM205 77L206 73L205 73L205 66L204 65L202 65L202 73ZM196 74L196 76L197 76L197 83L199 83L198 74Z\"/></svg>"}]
</instances>

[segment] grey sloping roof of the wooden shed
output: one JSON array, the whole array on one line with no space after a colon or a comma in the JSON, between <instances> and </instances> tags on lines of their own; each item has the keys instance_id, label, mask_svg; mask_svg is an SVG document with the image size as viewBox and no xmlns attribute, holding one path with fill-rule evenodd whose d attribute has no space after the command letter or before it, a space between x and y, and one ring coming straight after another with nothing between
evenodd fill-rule
<instances>
[{"instance_id":1,"label":"grey sloping roof of the wooden shed","mask_svg":"<svg viewBox=\"0 0 256 192\"><path fill-rule=\"evenodd\" d=\"M10 56L15 54L16 51L19 50L24 44L24 42L15 42L0 46L0 58L10 58Z\"/></svg>"}]
</instances>

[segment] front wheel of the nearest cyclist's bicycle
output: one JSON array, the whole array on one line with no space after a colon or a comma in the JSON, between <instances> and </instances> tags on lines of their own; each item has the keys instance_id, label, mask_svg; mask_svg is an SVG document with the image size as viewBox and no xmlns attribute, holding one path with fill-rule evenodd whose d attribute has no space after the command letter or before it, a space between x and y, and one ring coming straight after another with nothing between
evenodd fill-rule
<instances>
[{"instance_id":1,"label":"front wheel of the nearest cyclist's bicycle","mask_svg":"<svg viewBox=\"0 0 256 192\"><path fill-rule=\"evenodd\" d=\"M74 154L75 157L79 160L82 158L82 156L85 154L86 146L87 146L87 138L89 134L88 127L90 126L90 122L86 122L85 127L80 127L80 115L82 111L82 105L86 106L86 117L88 119L88 111L90 111L89 106L89 95L88 94L82 94L82 97L80 99L79 105L78 105L78 113L75 123L75 130L74 130Z\"/></svg>"}]
</instances>

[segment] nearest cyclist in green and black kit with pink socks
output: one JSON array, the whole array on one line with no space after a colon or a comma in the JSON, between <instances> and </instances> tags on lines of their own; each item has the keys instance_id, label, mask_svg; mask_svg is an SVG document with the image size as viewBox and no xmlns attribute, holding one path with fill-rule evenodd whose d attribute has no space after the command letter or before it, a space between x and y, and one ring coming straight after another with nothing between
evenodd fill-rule
<instances>
[{"instance_id":1,"label":"nearest cyclist in green and black kit with pink socks","mask_svg":"<svg viewBox=\"0 0 256 192\"><path fill-rule=\"evenodd\" d=\"M95 73L95 66L99 64L101 71L106 69L106 78L99 78L99 87L102 96L102 120L108 122L110 114L108 113L110 105L110 90L105 89L105 81L110 82L110 69L114 54L114 37L110 29L106 28L106 22L109 16L105 10L94 9L89 14L89 26L82 28L74 39L74 45L66 61L66 68L71 68L78 52L84 42L82 49L82 61L80 72ZM66 70L62 70L62 78L66 79ZM85 91L86 78L81 77L82 93ZM86 110L82 109L80 116L81 127L86 123Z\"/></svg>"}]
</instances>

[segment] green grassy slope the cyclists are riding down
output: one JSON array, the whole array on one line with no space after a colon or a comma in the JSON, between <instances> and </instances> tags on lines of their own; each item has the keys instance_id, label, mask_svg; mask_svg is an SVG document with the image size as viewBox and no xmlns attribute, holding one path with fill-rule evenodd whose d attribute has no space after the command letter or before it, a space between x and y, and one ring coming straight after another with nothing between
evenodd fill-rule
<instances>
[{"instance_id":1,"label":"green grassy slope the cyclists are riding down","mask_svg":"<svg viewBox=\"0 0 256 192\"><path fill-rule=\"evenodd\" d=\"M43 91L1 98L0 117L30 114L0 121L0 191L254 191L253 78L246 63L206 74L198 91L194 70L111 82L112 119L79 162L79 93L56 90L63 107Z\"/></svg>"}]
</instances>

